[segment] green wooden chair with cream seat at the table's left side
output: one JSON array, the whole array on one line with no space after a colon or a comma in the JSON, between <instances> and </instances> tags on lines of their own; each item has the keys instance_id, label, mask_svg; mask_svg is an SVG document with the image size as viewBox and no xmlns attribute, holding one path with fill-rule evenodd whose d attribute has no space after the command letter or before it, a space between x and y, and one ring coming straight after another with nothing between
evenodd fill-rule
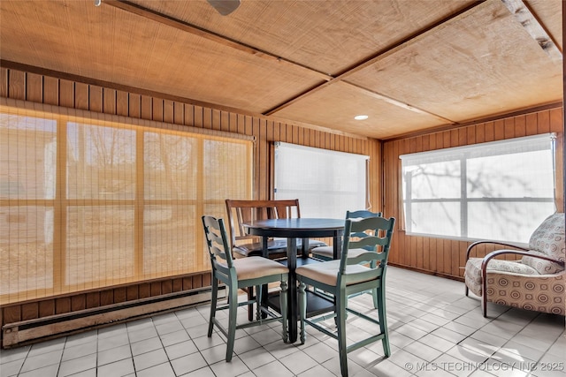
<instances>
[{"instance_id":1,"label":"green wooden chair with cream seat at the table's left side","mask_svg":"<svg viewBox=\"0 0 566 377\"><path fill-rule=\"evenodd\" d=\"M283 342L287 343L287 279L289 270L275 260L263 257L249 257L233 260L226 236L226 228L222 219L203 216L204 235L210 253L212 267L212 297L210 299L210 320L208 336L212 336L214 325L226 336L226 361L232 360L233 343L236 329L263 325L274 320L282 323ZM218 306L218 281L225 283L228 289L227 305ZM281 315L260 305L262 286L268 283L280 282L279 305ZM238 290L256 287L256 299L238 302ZM267 292L265 292L267 293ZM256 320L237 324L236 315L239 306L256 303ZM216 318L218 310L228 309L228 328L225 328ZM267 317L263 319L263 313Z\"/></svg>"}]
</instances>

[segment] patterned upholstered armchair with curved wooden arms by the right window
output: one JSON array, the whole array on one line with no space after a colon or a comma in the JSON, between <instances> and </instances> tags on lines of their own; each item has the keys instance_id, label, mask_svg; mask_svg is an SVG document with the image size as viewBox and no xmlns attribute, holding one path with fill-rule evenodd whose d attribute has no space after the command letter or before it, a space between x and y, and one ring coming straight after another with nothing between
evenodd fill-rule
<instances>
[{"instance_id":1,"label":"patterned upholstered armchair with curved wooden arms by the right window","mask_svg":"<svg viewBox=\"0 0 566 377\"><path fill-rule=\"evenodd\" d=\"M550 215L532 233L528 246L478 241L468 247L464 272L466 296L471 290L487 302L543 313L566 314L564 214ZM472 258L478 245L495 244L512 249L497 250ZM497 257L515 255L516 260ZM520 257L520 259L519 259Z\"/></svg>"}]
</instances>

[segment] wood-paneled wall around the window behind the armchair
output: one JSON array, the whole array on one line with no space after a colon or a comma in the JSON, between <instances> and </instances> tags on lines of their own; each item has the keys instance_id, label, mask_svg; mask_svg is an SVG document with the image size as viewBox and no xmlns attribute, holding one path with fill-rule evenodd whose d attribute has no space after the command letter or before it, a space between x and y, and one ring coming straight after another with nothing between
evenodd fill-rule
<instances>
[{"instance_id":1,"label":"wood-paneled wall around the window behind the armchair","mask_svg":"<svg viewBox=\"0 0 566 377\"><path fill-rule=\"evenodd\" d=\"M515 117L470 124L443 132L386 141L384 159L384 213L402 219L401 160L399 155L446 147L460 147L487 141L512 139L545 132L556 132L556 207L563 207L562 108L545 109ZM391 246L393 265L414 268L436 275L462 279L466 248L470 242L443 238L407 236L397 222ZM493 251L484 247L484 253Z\"/></svg>"}]
</instances>

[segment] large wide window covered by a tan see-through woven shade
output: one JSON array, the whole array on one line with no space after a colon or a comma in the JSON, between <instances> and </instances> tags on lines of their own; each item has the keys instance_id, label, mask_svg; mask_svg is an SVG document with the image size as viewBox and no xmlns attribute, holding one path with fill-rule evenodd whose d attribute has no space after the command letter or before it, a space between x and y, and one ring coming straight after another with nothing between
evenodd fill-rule
<instances>
[{"instance_id":1,"label":"large wide window covered by a tan see-through woven shade","mask_svg":"<svg viewBox=\"0 0 566 377\"><path fill-rule=\"evenodd\" d=\"M0 107L1 304L207 271L201 216L251 199L250 137L104 119Z\"/></svg>"}]
</instances>

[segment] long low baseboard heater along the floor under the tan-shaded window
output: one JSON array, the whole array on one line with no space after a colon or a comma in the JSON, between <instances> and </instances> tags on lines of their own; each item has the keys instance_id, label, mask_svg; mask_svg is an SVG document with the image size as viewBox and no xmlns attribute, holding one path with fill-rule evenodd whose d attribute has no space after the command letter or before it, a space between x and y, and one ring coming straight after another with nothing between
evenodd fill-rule
<instances>
[{"instance_id":1,"label":"long low baseboard heater along the floor under the tan-shaded window","mask_svg":"<svg viewBox=\"0 0 566 377\"><path fill-rule=\"evenodd\" d=\"M218 287L218 297L226 296L226 287ZM207 290L185 290L152 298L104 305L96 308L62 313L34 320L7 323L2 327L2 347L68 336L92 328L100 328L124 320L135 320L158 313L171 312L183 306L198 305L210 300Z\"/></svg>"}]
</instances>

